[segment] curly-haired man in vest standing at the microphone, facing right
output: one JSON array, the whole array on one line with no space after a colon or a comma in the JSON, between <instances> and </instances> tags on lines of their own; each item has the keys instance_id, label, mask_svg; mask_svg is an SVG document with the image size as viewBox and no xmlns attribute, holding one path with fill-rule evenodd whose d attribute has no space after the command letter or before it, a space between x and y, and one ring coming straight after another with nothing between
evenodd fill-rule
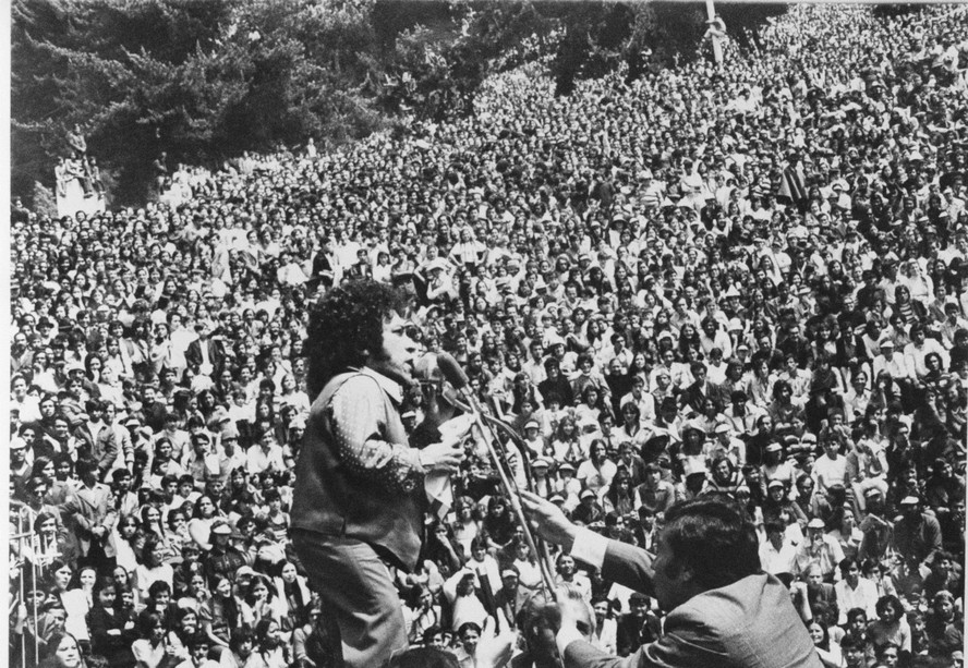
<instances>
[{"instance_id":1,"label":"curly-haired man in vest standing at the microphone, facing right","mask_svg":"<svg viewBox=\"0 0 968 668\"><path fill-rule=\"evenodd\" d=\"M400 418L418 344L402 296L375 281L336 288L310 314L315 401L297 464L292 544L336 619L347 666L380 666L407 648L384 560L411 571L427 501L423 478L455 470L459 444L411 448Z\"/></svg>"}]
</instances>

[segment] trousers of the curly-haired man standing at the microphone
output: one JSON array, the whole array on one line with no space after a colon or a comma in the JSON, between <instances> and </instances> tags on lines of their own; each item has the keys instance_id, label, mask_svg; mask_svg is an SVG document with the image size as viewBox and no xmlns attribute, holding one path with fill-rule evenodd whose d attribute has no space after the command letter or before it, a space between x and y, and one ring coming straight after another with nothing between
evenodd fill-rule
<instances>
[{"instance_id":1,"label":"trousers of the curly-haired man standing at the microphone","mask_svg":"<svg viewBox=\"0 0 968 668\"><path fill-rule=\"evenodd\" d=\"M400 596L370 545L294 531L292 546L319 593L323 614L336 618L348 668L382 666L408 647Z\"/></svg>"}]
</instances>

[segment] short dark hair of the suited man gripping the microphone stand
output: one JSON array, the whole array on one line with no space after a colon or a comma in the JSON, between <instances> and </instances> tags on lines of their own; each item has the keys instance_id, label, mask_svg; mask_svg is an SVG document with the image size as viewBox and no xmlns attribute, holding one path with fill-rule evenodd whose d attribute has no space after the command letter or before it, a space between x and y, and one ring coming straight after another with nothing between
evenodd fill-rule
<instances>
[{"instance_id":1,"label":"short dark hair of the suited man gripping the microphone stand","mask_svg":"<svg viewBox=\"0 0 968 668\"><path fill-rule=\"evenodd\" d=\"M733 584L761 570L757 529L742 506L723 494L669 508L663 539L677 564L689 568L706 588Z\"/></svg>"}]
</instances>

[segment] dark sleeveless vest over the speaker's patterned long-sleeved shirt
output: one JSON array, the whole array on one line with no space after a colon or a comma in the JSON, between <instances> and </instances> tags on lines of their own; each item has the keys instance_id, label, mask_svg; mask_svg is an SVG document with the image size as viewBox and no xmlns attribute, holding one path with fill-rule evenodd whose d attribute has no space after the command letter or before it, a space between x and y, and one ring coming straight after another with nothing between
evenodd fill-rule
<instances>
[{"instance_id":1,"label":"dark sleeveless vest over the speaker's patterned long-sleeved shirt","mask_svg":"<svg viewBox=\"0 0 968 668\"><path fill-rule=\"evenodd\" d=\"M334 377L310 409L295 467L292 527L362 541L380 556L412 571L420 552L426 509L423 485L400 494L354 474L340 459L331 436L332 397L353 376L368 378L359 372ZM407 445L400 411L376 380L372 382L367 401L380 402L384 414L383 423L374 425L375 430L388 442Z\"/></svg>"}]
</instances>

